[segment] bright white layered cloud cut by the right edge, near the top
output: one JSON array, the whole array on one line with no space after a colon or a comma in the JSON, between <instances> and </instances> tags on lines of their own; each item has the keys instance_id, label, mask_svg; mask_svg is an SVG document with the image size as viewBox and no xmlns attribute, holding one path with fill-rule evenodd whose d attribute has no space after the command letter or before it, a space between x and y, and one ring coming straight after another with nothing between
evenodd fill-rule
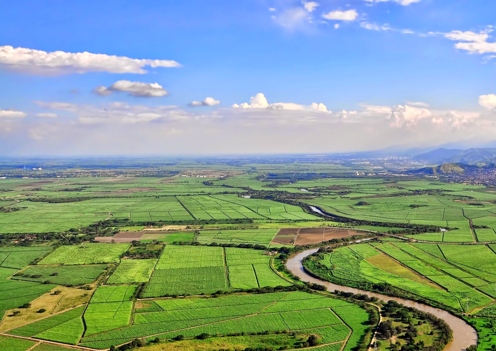
<instances>
[{"instance_id":1,"label":"bright white layered cloud cut by the right edge, near the top","mask_svg":"<svg viewBox=\"0 0 496 351\"><path fill-rule=\"evenodd\" d=\"M465 50L469 53L490 53L496 52L496 42L488 42L489 32L492 29L487 29L479 33L472 31L452 31L449 33L442 33L445 38L456 41L455 48ZM439 33L431 33L439 34Z\"/></svg>"}]
</instances>

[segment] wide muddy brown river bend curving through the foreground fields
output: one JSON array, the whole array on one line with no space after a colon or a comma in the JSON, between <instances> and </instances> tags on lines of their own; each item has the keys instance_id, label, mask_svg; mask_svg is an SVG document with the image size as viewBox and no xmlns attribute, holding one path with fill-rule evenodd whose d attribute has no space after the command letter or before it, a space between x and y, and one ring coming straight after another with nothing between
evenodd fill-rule
<instances>
[{"instance_id":1,"label":"wide muddy brown river bend curving through the foreground fields","mask_svg":"<svg viewBox=\"0 0 496 351\"><path fill-rule=\"evenodd\" d=\"M294 255L293 257L288 259L286 266L290 271L293 272L293 274L300 277L303 281L324 285L327 287L329 291L334 291L337 289L354 294L367 294L369 296L375 296L379 300L384 300L384 301L394 300L399 303L403 303L405 306L415 307L417 309L432 313L435 316L444 319L446 323L448 323L451 329L453 330L453 341L451 341L451 343L449 343L444 348L445 351L461 351L461 350L465 350L470 345L477 344L477 332L474 330L474 328L468 325L463 319L455 317L454 315L446 312L445 310L428 306L426 304L418 303L415 301L393 298L386 295L371 293L370 291L337 285L312 277L310 274L308 274L303 270L302 259L315 251L317 251L317 249L306 250Z\"/></svg>"}]
</instances>

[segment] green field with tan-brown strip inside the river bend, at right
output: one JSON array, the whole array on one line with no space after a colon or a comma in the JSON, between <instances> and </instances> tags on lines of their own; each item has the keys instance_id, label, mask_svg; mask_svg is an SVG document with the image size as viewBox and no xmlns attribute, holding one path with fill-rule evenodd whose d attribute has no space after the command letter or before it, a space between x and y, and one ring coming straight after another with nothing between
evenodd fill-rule
<instances>
[{"instance_id":1,"label":"green field with tan-brown strip inside the river bend, at right","mask_svg":"<svg viewBox=\"0 0 496 351\"><path fill-rule=\"evenodd\" d=\"M458 311L468 312L494 301L495 296L490 292L491 282L484 280L490 277L489 271L496 263L496 254L489 248L480 245L415 245L420 247L391 243L375 247L358 244L337 249L320 258L319 263L326 268L319 272L331 281L338 279L350 282L352 286L367 288L367 284L387 283ZM438 256L442 255L442 258L429 251L439 252ZM483 265L481 257L484 257Z\"/></svg>"}]
</instances>

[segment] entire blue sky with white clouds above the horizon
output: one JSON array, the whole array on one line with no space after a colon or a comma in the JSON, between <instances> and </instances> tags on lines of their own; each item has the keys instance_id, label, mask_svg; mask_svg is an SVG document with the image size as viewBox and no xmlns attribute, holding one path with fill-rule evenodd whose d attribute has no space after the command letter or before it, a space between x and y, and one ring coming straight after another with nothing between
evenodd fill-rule
<instances>
[{"instance_id":1,"label":"entire blue sky with white clouds above the horizon","mask_svg":"<svg viewBox=\"0 0 496 351\"><path fill-rule=\"evenodd\" d=\"M487 0L11 2L0 146L78 155L489 141L495 10ZM101 55L72 55L84 51Z\"/></svg>"}]
</instances>

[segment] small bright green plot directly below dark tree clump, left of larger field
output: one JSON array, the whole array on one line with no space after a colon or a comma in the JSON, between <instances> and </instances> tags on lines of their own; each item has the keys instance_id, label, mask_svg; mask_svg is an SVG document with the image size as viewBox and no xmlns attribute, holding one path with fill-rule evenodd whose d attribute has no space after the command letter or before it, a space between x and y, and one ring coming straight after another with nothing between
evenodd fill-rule
<instances>
[{"instance_id":1,"label":"small bright green plot directly below dark tree clump, left of larger field","mask_svg":"<svg viewBox=\"0 0 496 351\"><path fill-rule=\"evenodd\" d=\"M123 259L106 284L146 283L156 263L156 258Z\"/></svg>"}]
</instances>

